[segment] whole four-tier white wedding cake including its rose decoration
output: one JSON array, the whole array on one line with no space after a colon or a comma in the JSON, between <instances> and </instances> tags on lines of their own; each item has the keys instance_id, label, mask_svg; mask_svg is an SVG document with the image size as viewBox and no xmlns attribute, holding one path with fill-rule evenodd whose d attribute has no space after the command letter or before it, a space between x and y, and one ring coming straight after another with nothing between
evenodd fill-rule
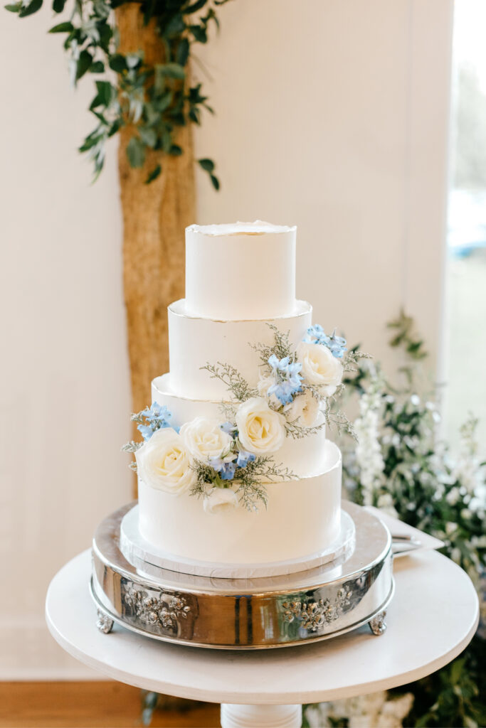
<instances>
[{"instance_id":1,"label":"whole four-tier white wedding cake including its rose decoration","mask_svg":"<svg viewBox=\"0 0 486 728\"><path fill-rule=\"evenodd\" d=\"M133 416L143 443L125 446L146 552L182 570L278 573L340 537L341 454L326 420L345 341L296 300L295 261L295 227L187 228L186 298L168 308L170 372Z\"/></svg>"}]
</instances>

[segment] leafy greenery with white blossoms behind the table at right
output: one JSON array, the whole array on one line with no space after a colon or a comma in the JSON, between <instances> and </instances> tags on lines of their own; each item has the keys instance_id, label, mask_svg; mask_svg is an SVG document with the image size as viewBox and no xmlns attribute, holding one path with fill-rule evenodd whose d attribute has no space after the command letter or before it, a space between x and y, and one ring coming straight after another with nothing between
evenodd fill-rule
<instances>
[{"instance_id":1,"label":"leafy greenery with white blossoms behind the table at right","mask_svg":"<svg viewBox=\"0 0 486 728\"><path fill-rule=\"evenodd\" d=\"M436 391L423 394L427 352L405 314L389 324L392 347L404 351L404 365L394 381L380 367L361 362L348 389L363 402L374 392L377 443L383 459L375 480L364 486L356 447L343 443L345 485L358 503L385 507L415 528L442 539L442 553L465 569L484 610L485 462L479 457L474 417L460 427L460 448L452 456L438 438ZM422 391L421 391L422 390ZM420 392L420 394L419 394ZM428 396L427 396L428 395ZM367 406L361 407L360 416ZM390 691L391 698L412 693L412 711L404 726L480 727L486 725L484 622L460 657L423 680ZM330 722L329 724L333 724ZM336 725L348 726L349 719Z\"/></svg>"}]
</instances>

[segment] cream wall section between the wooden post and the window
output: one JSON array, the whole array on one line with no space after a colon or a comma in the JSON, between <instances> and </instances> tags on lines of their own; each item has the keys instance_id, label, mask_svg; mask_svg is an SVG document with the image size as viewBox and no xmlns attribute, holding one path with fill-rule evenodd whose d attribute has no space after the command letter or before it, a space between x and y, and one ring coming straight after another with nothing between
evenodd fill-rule
<instances>
[{"instance_id":1,"label":"cream wall section between the wooden post and the window","mask_svg":"<svg viewBox=\"0 0 486 728\"><path fill-rule=\"evenodd\" d=\"M452 0L261 0L220 8L198 55L216 117L201 222L297 223L297 293L380 360L404 305L439 348ZM195 66L197 69L197 66Z\"/></svg>"}]
</instances>

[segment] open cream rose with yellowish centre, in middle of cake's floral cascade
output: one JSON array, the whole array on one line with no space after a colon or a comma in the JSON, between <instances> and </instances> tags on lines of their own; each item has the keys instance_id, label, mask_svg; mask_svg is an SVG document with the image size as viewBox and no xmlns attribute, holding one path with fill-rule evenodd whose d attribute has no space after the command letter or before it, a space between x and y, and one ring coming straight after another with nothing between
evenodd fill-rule
<instances>
[{"instance_id":1,"label":"open cream rose with yellowish centre, in middle of cake's floral cascade","mask_svg":"<svg viewBox=\"0 0 486 728\"><path fill-rule=\"evenodd\" d=\"M285 419L270 409L262 397L251 397L236 413L238 438L245 450L254 455L275 453L285 440Z\"/></svg>"}]
</instances>

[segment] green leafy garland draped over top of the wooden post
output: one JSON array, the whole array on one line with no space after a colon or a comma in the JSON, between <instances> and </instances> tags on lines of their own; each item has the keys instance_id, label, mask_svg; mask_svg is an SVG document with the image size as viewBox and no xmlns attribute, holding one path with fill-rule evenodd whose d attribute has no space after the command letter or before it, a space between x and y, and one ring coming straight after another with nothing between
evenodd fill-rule
<instances>
[{"instance_id":1,"label":"green leafy garland draped over top of the wooden post","mask_svg":"<svg viewBox=\"0 0 486 728\"><path fill-rule=\"evenodd\" d=\"M71 1L71 0L69 0ZM191 85L188 77L192 47L208 41L211 24L219 28L216 8L228 0L74 0L69 19L54 25L50 33L65 36L71 83L85 74L95 74L95 96L90 111L96 125L79 151L93 161L95 178L103 169L106 142L122 127L133 127L127 145L131 167L143 167L147 151L178 157L177 132L187 124L200 124L203 109L213 114L202 84ZM154 21L164 49L163 63L149 64L141 52L119 52L119 33L114 10L136 2L144 24ZM28 17L42 7L43 0L17 0L5 7L18 17ZM66 9L66 0L53 0L55 13ZM198 159L213 187L219 180L211 159ZM154 181L162 171L155 165L146 178Z\"/></svg>"}]
</instances>

